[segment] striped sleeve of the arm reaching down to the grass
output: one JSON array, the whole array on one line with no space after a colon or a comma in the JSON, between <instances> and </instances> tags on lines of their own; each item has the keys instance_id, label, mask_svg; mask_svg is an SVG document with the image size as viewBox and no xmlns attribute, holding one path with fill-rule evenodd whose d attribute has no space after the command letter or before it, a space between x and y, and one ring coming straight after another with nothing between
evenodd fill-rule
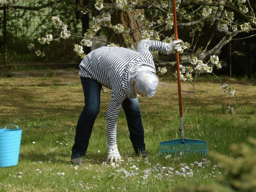
<instances>
[{"instance_id":1,"label":"striped sleeve of the arm reaching down to the grass","mask_svg":"<svg viewBox=\"0 0 256 192\"><path fill-rule=\"evenodd\" d=\"M125 96L118 94L118 92L116 92L115 90L112 90L111 99L106 115L107 139L108 144L110 145L116 144L116 121L125 98Z\"/></svg>"}]
</instances>

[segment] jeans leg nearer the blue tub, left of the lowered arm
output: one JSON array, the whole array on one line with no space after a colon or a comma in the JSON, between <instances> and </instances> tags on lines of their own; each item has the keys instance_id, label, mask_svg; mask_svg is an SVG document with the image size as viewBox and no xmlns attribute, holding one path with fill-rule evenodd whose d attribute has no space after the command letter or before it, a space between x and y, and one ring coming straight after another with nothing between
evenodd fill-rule
<instances>
[{"instance_id":1,"label":"jeans leg nearer the blue tub, left of the lowered arm","mask_svg":"<svg viewBox=\"0 0 256 192\"><path fill-rule=\"evenodd\" d=\"M92 133L92 127L100 110L102 85L91 78L81 77L84 90L84 108L77 121L75 144L72 154L85 155Z\"/></svg>"}]
</instances>

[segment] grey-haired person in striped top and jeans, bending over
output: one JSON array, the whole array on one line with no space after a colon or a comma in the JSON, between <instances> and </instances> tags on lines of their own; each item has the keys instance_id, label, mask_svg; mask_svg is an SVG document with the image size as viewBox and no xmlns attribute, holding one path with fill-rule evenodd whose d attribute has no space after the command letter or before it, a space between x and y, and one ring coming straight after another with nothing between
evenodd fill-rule
<instances>
[{"instance_id":1,"label":"grey-haired person in striped top and jeans, bending over","mask_svg":"<svg viewBox=\"0 0 256 192\"><path fill-rule=\"evenodd\" d=\"M116 143L116 120L124 109L130 140L136 155L148 156L144 143L138 96L152 97L158 85L156 69L150 51L180 51L183 42L171 44L141 40L137 52L123 47L101 47L90 52L80 63L79 76L84 90L84 108L76 126L75 144L72 147L72 164L83 164L82 156L88 148L92 127L100 109L102 85L112 90L106 115L107 162L119 162L121 156Z\"/></svg>"}]
</instances>

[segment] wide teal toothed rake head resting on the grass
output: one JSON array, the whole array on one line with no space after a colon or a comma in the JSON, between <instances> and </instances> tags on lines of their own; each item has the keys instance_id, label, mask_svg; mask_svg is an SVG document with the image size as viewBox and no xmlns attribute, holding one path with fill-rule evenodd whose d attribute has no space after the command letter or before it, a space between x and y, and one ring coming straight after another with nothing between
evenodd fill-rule
<instances>
[{"instance_id":1,"label":"wide teal toothed rake head resting on the grass","mask_svg":"<svg viewBox=\"0 0 256 192\"><path fill-rule=\"evenodd\" d=\"M160 142L159 153L161 155L201 155L205 156L208 153L206 141L194 139L175 139Z\"/></svg>"}]
</instances>

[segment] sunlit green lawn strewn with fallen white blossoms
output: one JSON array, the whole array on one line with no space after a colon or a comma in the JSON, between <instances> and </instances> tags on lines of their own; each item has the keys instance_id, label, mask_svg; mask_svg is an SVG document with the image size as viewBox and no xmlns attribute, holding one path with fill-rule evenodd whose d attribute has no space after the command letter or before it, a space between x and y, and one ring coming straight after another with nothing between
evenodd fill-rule
<instances>
[{"instance_id":1,"label":"sunlit green lawn strewn with fallen white blossoms","mask_svg":"<svg viewBox=\"0 0 256 192\"><path fill-rule=\"evenodd\" d=\"M134 156L121 110L117 142L124 162L105 164L110 94L102 93L84 165L71 166L84 99L79 78L1 78L0 127L16 124L22 138L18 165L0 168L0 191L172 191L188 187L191 181L200 185L218 182L225 170L211 157L159 155L161 141L180 138L177 83L163 81L166 84L159 84L153 98L139 98L148 159ZM182 102L185 138L205 140L209 150L233 157L231 144L256 137L256 88L244 81L228 81L238 98L234 116L225 113L234 98L222 93L214 81L196 84L196 100L190 84L182 82Z\"/></svg>"}]
</instances>

